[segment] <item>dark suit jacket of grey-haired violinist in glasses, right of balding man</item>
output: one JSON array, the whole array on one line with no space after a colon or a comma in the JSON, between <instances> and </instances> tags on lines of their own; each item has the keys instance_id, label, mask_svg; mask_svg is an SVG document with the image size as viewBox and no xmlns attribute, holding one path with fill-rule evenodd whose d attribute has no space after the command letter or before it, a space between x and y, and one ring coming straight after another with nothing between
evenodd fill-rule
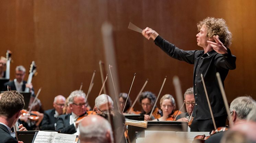
<instances>
[{"instance_id":1,"label":"dark suit jacket of grey-haired violinist in glasses, right of balding man","mask_svg":"<svg viewBox=\"0 0 256 143\"><path fill-rule=\"evenodd\" d=\"M69 118L71 114L60 115L57 120L56 131L60 133L73 134L77 132L73 124L69 125Z\"/></svg>"}]
</instances>

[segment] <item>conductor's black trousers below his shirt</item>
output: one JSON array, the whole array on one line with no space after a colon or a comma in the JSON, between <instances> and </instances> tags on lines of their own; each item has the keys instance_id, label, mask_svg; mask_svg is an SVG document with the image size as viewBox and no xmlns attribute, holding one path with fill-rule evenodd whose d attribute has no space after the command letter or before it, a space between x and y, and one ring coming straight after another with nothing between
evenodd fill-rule
<instances>
[{"instance_id":1,"label":"conductor's black trousers below his shirt","mask_svg":"<svg viewBox=\"0 0 256 143\"><path fill-rule=\"evenodd\" d=\"M227 115L215 117L216 127L225 127ZM190 131L191 132L211 132L214 130L212 119L193 120Z\"/></svg>"}]
</instances>

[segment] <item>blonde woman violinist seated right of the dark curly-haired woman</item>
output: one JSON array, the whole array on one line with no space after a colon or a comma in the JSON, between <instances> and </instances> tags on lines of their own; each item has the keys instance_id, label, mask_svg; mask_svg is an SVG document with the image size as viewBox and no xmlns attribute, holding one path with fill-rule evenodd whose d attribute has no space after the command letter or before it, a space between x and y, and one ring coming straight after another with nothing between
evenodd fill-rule
<instances>
[{"instance_id":1,"label":"blonde woman violinist seated right of the dark curly-haired woman","mask_svg":"<svg viewBox=\"0 0 256 143\"><path fill-rule=\"evenodd\" d=\"M161 106L163 116L158 119L154 119L154 120L173 121L176 114L179 115L182 113L181 111L178 111L178 110L175 111L176 103L175 103L173 96L170 94L166 94L161 98L160 106Z\"/></svg>"}]
</instances>

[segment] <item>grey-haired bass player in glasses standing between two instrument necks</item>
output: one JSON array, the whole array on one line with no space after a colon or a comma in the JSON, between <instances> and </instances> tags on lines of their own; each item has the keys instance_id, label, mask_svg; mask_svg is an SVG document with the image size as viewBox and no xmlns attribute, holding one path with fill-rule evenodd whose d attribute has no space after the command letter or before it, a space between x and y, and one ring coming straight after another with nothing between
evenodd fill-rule
<instances>
[{"instance_id":1,"label":"grey-haired bass player in glasses standing between two instrument necks","mask_svg":"<svg viewBox=\"0 0 256 143\"><path fill-rule=\"evenodd\" d=\"M11 87L11 90L17 91L25 91L25 88L28 87L30 88L31 95L35 96L32 83L27 84L27 82L24 81L25 75L26 69L23 66L17 66L15 69L15 79L4 84L5 91L8 90L7 85Z\"/></svg>"}]
</instances>

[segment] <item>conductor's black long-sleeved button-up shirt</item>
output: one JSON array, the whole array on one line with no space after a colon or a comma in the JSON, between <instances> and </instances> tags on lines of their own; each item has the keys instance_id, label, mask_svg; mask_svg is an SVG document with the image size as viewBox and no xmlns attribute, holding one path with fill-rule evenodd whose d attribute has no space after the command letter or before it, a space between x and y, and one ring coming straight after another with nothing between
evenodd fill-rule
<instances>
[{"instance_id":1,"label":"conductor's black long-sleeved button-up shirt","mask_svg":"<svg viewBox=\"0 0 256 143\"><path fill-rule=\"evenodd\" d=\"M235 69L236 57L231 54L230 49L227 48L228 54L224 55L219 54L214 50L204 54L203 50L184 51L179 49L174 44L169 43L160 36L156 37L154 42L169 56L190 64L194 64L193 88L196 101L193 111L194 118L211 118L205 91L201 82L201 73L203 74L203 78L205 80L213 116L218 117L226 115L216 72L220 73L223 84L229 70Z\"/></svg>"}]
</instances>

